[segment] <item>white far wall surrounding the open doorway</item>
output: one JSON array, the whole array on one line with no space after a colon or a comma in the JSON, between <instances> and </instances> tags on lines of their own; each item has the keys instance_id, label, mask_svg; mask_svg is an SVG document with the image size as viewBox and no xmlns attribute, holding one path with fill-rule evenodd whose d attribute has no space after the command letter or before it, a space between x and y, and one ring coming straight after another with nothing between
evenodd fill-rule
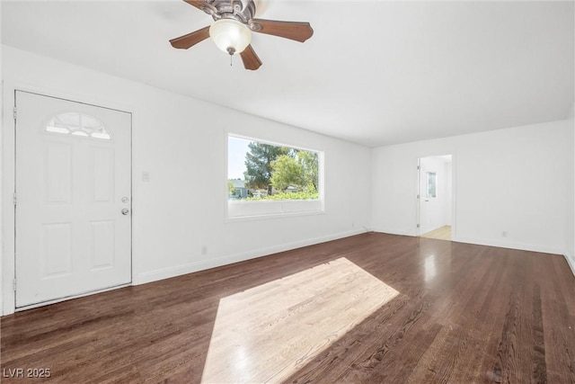
<instances>
[{"instance_id":1,"label":"white far wall surrounding the open doorway","mask_svg":"<svg viewBox=\"0 0 575 384\"><path fill-rule=\"evenodd\" d=\"M572 143L572 124L555 121L378 147L372 163L372 225L415 236L413 165L418 157L451 153L454 240L564 255L570 236L565 223L573 215Z\"/></svg>"}]
</instances>

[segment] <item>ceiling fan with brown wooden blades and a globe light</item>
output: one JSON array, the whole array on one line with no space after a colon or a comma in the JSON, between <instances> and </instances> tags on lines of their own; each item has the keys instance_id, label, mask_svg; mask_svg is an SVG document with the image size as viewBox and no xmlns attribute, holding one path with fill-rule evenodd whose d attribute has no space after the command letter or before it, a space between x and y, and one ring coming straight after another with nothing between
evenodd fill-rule
<instances>
[{"instance_id":1,"label":"ceiling fan with brown wooden blades and a globe light","mask_svg":"<svg viewBox=\"0 0 575 384\"><path fill-rule=\"evenodd\" d=\"M211 37L230 56L239 54L243 67L255 70L261 60L252 48L252 31L304 42L314 30L309 22L254 19L254 0L183 0L214 18L211 26L170 40L173 48L189 49Z\"/></svg>"}]
</instances>

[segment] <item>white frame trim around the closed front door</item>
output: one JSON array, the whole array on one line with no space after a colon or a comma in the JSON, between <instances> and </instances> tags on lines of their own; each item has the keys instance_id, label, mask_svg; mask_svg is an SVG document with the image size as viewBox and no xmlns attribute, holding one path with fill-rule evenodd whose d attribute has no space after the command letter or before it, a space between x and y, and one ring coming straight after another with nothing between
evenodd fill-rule
<instances>
[{"instance_id":1,"label":"white frame trim around the closed front door","mask_svg":"<svg viewBox=\"0 0 575 384\"><path fill-rule=\"evenodd\" d=\"M63 92L61 90L50 89L49 87L37 87L31 85L18 85L9 84L4 82L2 84L2 106L4 108L4 116L2 121L2 250L1 256L1 276L0 281L2 284L2 290L0 295L0 315L10 315L15 311L20 311L24 309L31 308L22 307L16 308L16 295L13 290L13 281L15 280L15 266L16 266L16 254L15 254L15 207L13 205L13 193L15 192L15 177L16 177L16 121L13 119L12 109L16 106L16 92L24 92L28 94L38 94L41 96L52 97L56 99L65 100L73 103L83 103L86 105L92 105L99 108L105 108L112 111L126 112L130 115L130 132L129 132L129 178L130 178L130 199L131 199L131 210L132 215L130 215L130 235L129 235L129 246L130 246L130 283L119 285L116 287L111 287L110 289L117 289L125 287L127 285L134 285L134 275L135 275L135 261L134 261L134 113L129 112L131 108L127 106L117 106L114 103L105 102L102 100L94 99L93 97L87 96L85 94L70 94ZM6 108L7 107L7 108ZM8 110L8 111L6 111ZM105 290L110 290L105 289ZM99 290L101 291L101 290ZM75 297L86 296L87 294L97 293L98 291L93 291L90 293L84 293L81 295L76 295L74 297L67 297L63 299L73 299ZM62 300L63 300L62 299ZM59 300L59 301L62 301ZM50 302L41 303L42 305L50 304ZM39 307L40 305L36 305Z\"/></svg>"}]
</instances>

